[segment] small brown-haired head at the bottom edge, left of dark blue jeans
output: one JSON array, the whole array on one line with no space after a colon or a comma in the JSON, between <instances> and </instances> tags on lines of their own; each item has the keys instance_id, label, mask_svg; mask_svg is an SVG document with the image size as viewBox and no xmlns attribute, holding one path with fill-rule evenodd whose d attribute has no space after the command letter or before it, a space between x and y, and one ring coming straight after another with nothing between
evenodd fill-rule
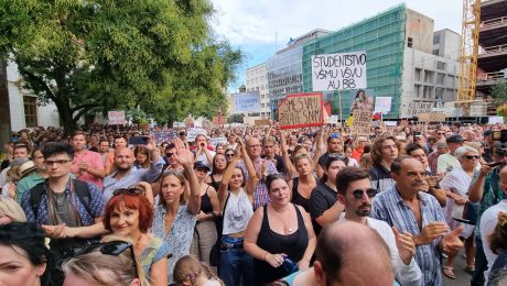
<instances>
[{"instance_id":1,"label":"small brown-haired head at the bottom edge, left of dark blue jeans","mask_svg":"<svg viewBox=\"0 0 507 286\"><path fill-rule=\"evenodd\" d=\"M201 263L194 255L185 255L181 257L174 265L173 280L179 285L197 285L197 277L204 275L207 279L214 279L225 286L206 264Z\"/></svg>"}]
</instances>

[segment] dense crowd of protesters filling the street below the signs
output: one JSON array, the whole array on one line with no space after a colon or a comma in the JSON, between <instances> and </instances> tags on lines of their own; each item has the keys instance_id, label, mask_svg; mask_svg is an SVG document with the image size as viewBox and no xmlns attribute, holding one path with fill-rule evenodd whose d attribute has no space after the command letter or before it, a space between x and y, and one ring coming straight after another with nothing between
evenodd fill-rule
<instances>
[{"instance_id":1,"label":"dense crowd of protesters filling the street below the signs","mask_svg":"<svg viewBox=\"0 0 507 286\"><path fill-rule=\"evenodd\" d=\"M504 124L188 131L14 132L0 285L507 284Z\"/></svg>"}]
</instances>

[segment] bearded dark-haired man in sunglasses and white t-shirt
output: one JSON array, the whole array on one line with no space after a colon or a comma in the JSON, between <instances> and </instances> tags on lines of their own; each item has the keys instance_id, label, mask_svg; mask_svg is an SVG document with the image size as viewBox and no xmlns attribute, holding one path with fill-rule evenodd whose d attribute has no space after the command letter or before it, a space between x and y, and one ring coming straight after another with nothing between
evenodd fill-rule
<instances>
[{"instance_id":1,"label":"bearded dark-haired man in sunglasses and white t-shirt","mask_svg":"<svg viewBox=\"0 0 507 286\"><path fill-rule=\"evenodd\" d=\"M336 182L341 183L336 185L337 198L345 206L345 212L341 215L338 223L355 221L377 231L389 246L396 279L401 285L419 286L421 270L413 260L416 244L412 234L400 233L385 221L368 218L371 200L377 194L377 190L371 188L368 172L358 167L345 167L336 175Z\"/></svg>"}]
</instances>

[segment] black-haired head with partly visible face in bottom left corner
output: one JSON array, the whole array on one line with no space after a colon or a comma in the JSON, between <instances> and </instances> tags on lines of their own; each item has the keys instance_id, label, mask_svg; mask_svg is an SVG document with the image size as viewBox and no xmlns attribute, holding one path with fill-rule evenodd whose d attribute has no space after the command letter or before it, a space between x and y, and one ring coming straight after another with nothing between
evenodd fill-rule
<instances>
[{"instance_id":1,"label":"black-haired head with partly visible face in bottom left corner","mask_svg":"<svg viewBox=\"0 0 507 286\"><path fill-rule=\"evenodd\" d=\"M50 250L44 232L32 223L0 226L0 285L47 285Z\"/></svg>"}]
</instances>

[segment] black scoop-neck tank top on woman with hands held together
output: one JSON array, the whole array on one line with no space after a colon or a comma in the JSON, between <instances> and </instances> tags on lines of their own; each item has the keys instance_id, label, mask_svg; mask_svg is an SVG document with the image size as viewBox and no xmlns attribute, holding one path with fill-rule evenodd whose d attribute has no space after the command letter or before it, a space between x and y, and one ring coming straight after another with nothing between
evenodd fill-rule
<instances>
[{"instance_id":1,"label":"black scoop-neck tank top on woman with hands held together","mask_svg":"<svg viewBox=\"0 0 507 286\"><path fill-rule=\"evenodd\" d=\"M262 226L257 238L257 245L271 254L285 253L289 258L298 263L303 257L304 251L306 251L309 234L300 209L294 205L292 206L295 208L298 217L298 230L288 235L282 235L271 230L268 219L268 206L263 207L265 217L262 218ZM290 274L287 273L283 266L273 268L269 263L260 260L254 260L254 266L256 285L265 285Z\"/></svg>"}]
</instances>

